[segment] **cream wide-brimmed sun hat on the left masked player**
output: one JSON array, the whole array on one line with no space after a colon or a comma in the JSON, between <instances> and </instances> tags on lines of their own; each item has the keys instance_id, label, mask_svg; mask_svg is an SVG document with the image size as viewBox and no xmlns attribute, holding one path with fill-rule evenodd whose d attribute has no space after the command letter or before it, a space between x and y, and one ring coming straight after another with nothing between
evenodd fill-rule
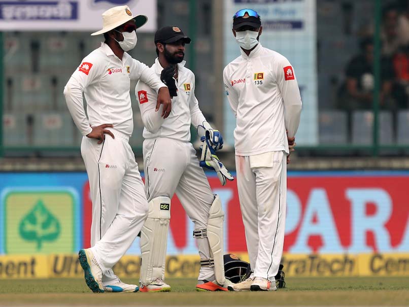
<instances>
[{"instance_id":1,"label":"cream wide-brimmed sun hat on the left masked player","mask_svg":"<svg viewBox=\"0 0 409 307\"><path fill-rule=\"evenodd\" d=\"M148 21L148 17L145 15L133 16L128 6L111 8L103 13L103 28L93 32L91 35L106 33L131 19L135 20L137 28L143 26Z\"/></svg>"}]
</instances>

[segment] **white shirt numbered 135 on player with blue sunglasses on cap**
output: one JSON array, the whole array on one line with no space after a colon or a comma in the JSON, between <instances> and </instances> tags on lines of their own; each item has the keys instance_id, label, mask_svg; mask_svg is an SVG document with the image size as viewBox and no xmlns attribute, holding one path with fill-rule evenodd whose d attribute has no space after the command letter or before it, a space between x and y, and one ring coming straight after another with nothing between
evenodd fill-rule
<instances>
[{"instance_id":1,"label":"white shirt numbered 135 on player with blue sunglasses on cap","mask_svg":"<svg viewBox=\"0 0 409 307\"><path fill-rule=\"evenodd\" d=\"M294 137L301 113L301 96L290 62L258 44L223 71L224 86L236 116L234 148L238 156L271 151L289 154L288 136Z\"/></svg>"}]
</instances>

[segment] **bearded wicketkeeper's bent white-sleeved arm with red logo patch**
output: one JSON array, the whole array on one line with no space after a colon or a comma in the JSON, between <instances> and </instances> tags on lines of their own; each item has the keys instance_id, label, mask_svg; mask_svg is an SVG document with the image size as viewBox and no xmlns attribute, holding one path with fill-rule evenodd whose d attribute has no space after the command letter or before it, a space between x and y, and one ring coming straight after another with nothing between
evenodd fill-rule
<instances>
[{"instance_id":1,"label":"bearded wicketkeeper's bent white-sleeved arm with red logo patch","mask_svg":"<svg viewBox=\"0 0 409 307\"><path fill-rule=\"evenodd\" d=\"M161 116L164 106L161 105L159 112L156 111L158 94L154 89L140 80L137 83L137 87L135 87L135 95L137 95L138 106L141 110L142 121L146 129L149 132L156 133L165 120L164 117Z\"/></svg>"}]
</instances>

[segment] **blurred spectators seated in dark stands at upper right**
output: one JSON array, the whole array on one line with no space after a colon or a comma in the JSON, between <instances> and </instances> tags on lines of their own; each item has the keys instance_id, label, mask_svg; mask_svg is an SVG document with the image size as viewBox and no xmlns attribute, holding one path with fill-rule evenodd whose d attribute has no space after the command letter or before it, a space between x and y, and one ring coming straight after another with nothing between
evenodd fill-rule
<instances>
[{"instance_id":1,"label":"blurred spectators seated in dark stands at upper right","mask_svg":"<svg viewBox=\"0 0 409 307\"><path fill-rule=\"evenodd\" d=\"M371 110L374 82L374 24L360 35L360 52L348 62L339 88L338 109ZM388 4L381 24L380 109L393 113L409 108L409 1Z\"/></svg>"}]
</instances>

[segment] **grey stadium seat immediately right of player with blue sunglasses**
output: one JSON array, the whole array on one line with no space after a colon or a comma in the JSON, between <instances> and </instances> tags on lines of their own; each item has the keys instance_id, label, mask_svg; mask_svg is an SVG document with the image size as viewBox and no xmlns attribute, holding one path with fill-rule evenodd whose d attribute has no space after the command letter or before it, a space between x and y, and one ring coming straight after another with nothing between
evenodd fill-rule
<instances>
[{"instance_id":1,"label":"grey stadium seat immediately right of player with blue sunglasses","mask_svg":"<svg viewBox=\"0 0 409 307\"><path fill-rule=\"evenodd\" d=\"M320 144L347 143L347 114L343 111L321 111Z\"/></svg>"}]
</instances>

